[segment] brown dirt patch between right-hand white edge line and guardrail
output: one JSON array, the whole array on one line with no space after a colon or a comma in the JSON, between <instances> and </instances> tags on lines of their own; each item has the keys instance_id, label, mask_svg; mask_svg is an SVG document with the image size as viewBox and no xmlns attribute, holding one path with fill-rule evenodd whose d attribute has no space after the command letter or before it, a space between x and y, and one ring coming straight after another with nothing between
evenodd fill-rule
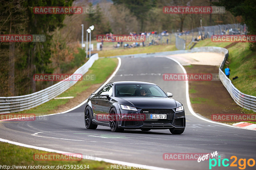
<instances>
[{"instance_id":1,"label":"brown dirt patch between right-hand white edge line and guardrail","mask_svg":"<svg viewBox=\"0 0 256 170\"><path fill-rule=\"evenodd\" d=\"M216 66L192 65L185 69L187 73L219 73L219 67ZM188 84L190 101L196 113L209 119L212 114L244 113L221 81L189 81Z\"/></svg>"}]
</instances>

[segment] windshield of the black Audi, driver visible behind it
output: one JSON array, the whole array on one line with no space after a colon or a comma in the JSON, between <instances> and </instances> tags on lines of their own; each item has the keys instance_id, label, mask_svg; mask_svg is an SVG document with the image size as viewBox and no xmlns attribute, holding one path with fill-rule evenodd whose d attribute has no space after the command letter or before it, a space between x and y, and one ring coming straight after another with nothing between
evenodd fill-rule
<instances>
[{"instance_id":1,"label":"windshield of the black Audi, driver visible behind it","mask_svg":"<svg viewBox=\"0 0 256 170\"><path fill-rule=\"evenodd\" d=\"M164 91L154 84L116 84L116 97L128 96L167 97Z\"/></svg>"}]
</instances>

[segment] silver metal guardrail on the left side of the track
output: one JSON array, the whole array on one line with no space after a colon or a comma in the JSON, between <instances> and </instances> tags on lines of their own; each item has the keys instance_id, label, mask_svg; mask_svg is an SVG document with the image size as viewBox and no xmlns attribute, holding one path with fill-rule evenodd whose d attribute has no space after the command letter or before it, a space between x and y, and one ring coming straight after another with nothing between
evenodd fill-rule
<instances>
[{"instance_id":1,"label":"silver metal guardrail on the left side of the track","mask_svg":"<svg viewBox=\"0 0 256 170\"><path fill-rule=\"evenodd\" d=\"M91 58L80 68L78 68L74 74L85 74L95 60L99 59L98 53L91 56ZM18 112L36 107L40 104L48 102L56 96L66 91L73 86L76 81L60 81L46 89L37 91L32 94L23 96L11 96L0 97L0 114Z\"/></svg>"}]
</instances>

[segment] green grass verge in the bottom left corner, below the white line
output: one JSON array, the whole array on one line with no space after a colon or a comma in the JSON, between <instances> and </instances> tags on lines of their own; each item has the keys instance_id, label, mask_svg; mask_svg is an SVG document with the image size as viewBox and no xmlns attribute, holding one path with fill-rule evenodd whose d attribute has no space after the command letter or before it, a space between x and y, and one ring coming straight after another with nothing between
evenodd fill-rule
<instances>
[{"instance_id":1,"label":"green grass verge in the bottom left corner, below the white line","mask_svg":"<svg viewBox=\"0 0 256 170\"><path fill-rule=\"evenodd\" d=\"M79 165L79 167L82 165L89 165L89 169L93 170L108 170L110 169L111 165L110 163L106 163L103 161L95 161L95 160L87 160L87 159L82 159L82 160L72 160L72 161L66 161L66 160L57 160L57 161L38 161L34 160L33 155L34 154L39 154L39 153L51 153L51 152L45 152L41 150L36 150L36 149L31 149L31 148L26 148L22 146L17 146L17 145L12 145L8 144L5 142L0 142L0 162L1 165L7 165L11 166L16 165L16 166L55 166L54 169L57 169L56 166L58 165L73 165L74 169L76 165ZM93 157L92 157L93 158ZM18 169L25 169L25 168L18 168ZM35 169L35 168L34 168ZM44 168L40 168L44 169ZM47 169L47 168L46 168ZM60 169L60 168L59 168ZM64 169L64 168L61 168ZM86 168L88 169L88 168ZM133 168L131 168L133 169Z\"/></svg>"}]
</instances>

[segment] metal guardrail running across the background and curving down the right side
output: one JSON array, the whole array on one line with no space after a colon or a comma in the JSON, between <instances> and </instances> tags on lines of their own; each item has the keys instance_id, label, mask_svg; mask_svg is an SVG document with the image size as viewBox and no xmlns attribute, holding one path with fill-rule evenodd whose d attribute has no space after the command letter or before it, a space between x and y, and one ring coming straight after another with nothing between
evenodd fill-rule
<instances>
[{"instance_id":1,"label":"metal guardrail running across the background and curving down the right side","mask_svg":"<svg viewBox=\"0 0 256 170\"><path fill-rule=\"evenodd\" d=\"M157 52L157 53L140 53L140 54L129 54L129 55L119 55L119 56L110 56L108 58L138 58L138 57L153 57L153 56L165 56L165 55L175 55L181 53L197 53L197 52L212 52L212 53L222 53L225 55L223 62L219 67L219 77L223 77L221 80L224 87L228 90L228 93L233 98L233 100L241 107L253 110L256 112L256 97L250 96L242 93L232 84L231 80L223 73L223 67L225 65L226 60L228 59L228 50L222 47L214 47L214 46L204 46L204 47L196 47L191 50L176 50L176 51L166 51L166 52ZM104 58L104 57L100 57Z\"/></svg>"}]
</instances>

